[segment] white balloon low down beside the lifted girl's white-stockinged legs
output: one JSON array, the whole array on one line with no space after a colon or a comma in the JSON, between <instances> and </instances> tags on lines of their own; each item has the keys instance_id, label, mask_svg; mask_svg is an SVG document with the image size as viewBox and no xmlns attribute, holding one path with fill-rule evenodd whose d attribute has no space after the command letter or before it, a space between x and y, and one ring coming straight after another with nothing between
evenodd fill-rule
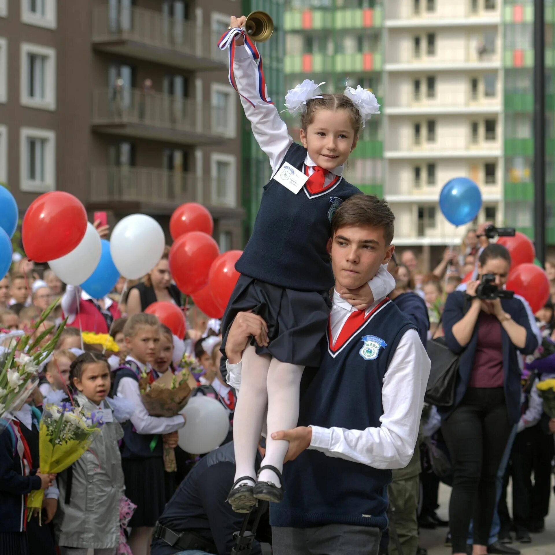
<instances>
[{"instance_id":1,"label":"white balloon low down beside the lifted girl's white-stockinged legs","mask_svg":"<svg viewBox=\"0 0 555 555\"><path fill-rule=\"evenodd\" d=\"M191 455L214 450L228 435L228 411L211 397L197 395L190 398L181 414L187 421L179 430L178 445Z\"/></svg>"}]
</instances>

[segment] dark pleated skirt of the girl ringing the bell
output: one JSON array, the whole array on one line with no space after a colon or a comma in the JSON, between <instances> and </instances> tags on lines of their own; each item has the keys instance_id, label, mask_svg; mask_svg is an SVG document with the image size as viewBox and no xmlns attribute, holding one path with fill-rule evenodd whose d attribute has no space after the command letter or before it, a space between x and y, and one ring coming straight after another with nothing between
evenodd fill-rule
<instances>
[{"instance_id":1,"label":"dark pleated skirt of the girl ringing the bell","mask_svg":"<svg viewBox=\"0 0 555 555\"><path fill-rule=\"evenodd\" d=\"M222 320L222 352L235 316L248 310L268 324L267 347L256 345L254 337L251 340L256 354L301 366L320 364L320 342L326 335L331 310L329 292L295 291L239 276Z\"/></svg>"}]
</instances>

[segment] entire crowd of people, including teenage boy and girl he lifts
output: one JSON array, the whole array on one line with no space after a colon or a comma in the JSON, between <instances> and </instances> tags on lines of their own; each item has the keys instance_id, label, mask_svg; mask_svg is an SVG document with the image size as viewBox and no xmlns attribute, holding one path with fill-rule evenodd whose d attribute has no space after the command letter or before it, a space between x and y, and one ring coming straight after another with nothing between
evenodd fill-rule
<instances>
[{"instance_id":1,"label":"entire crowd of people, including teenage boy and girl he lifts","mask_svg":"<svg viewBox=\"0 0 555 555\"><path fill-rule=\"evenodd\" d=\"M430 273L414 251L396 253L390 207L342 178L376 98L306 80L286 97L301 114L295 143L244 23L232 17L219 46L233 45L232 84L273 178L223 319L184 302L169 248L102 298L25 258L0 280L0 340L23 330L43 344L65 326L0 434L0 553L229 555L238 542L258 555L265 542L275 555L424 555L422 531L446 527L455 555L517 555L510 544L544 530L551 497L555 419L535 386L555 363L534 354L555 340L555 263L552 298L534 315L518 295L477 295L481 276L503 289L511 267L488 223ZM185 311L185 337L145 312L157 301ZM458 356L448 406L424 403L426 345L438 337ZM187 356L193 395L229 417L220 447L200 455L178 445L186 417L151 415L141 389L174 381ZM104 425L71 466L42 473L41 410L63 398ZM448 521L441 482L452 487ZM37 490L43 507L28 513ZM256 526L258 539L234 534Z\"/></svg>"}]
</instances>

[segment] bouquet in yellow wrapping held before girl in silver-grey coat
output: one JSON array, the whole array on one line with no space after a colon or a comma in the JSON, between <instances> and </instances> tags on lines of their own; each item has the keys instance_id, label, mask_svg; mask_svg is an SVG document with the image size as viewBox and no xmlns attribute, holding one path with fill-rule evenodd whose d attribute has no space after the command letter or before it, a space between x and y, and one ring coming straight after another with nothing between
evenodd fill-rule
<instances>
[{"instance_id":1,"label":"bouquet in yellow wrapping held before girl in silver-grey coat","mask_svg":"<svg viewBox=\"0 0 555 555\"><path fill-rule=\"evenodd\" d=\"M39 466L45 474L57 474L73 465L100 432L102 419L94 412L86 415L82 407L71 403L44 407L39 426ZM34 490L27 497L27 507L42 507L44 490ZM31 518L32 511L29 511Z\"/></svg>"}]
</instances>

